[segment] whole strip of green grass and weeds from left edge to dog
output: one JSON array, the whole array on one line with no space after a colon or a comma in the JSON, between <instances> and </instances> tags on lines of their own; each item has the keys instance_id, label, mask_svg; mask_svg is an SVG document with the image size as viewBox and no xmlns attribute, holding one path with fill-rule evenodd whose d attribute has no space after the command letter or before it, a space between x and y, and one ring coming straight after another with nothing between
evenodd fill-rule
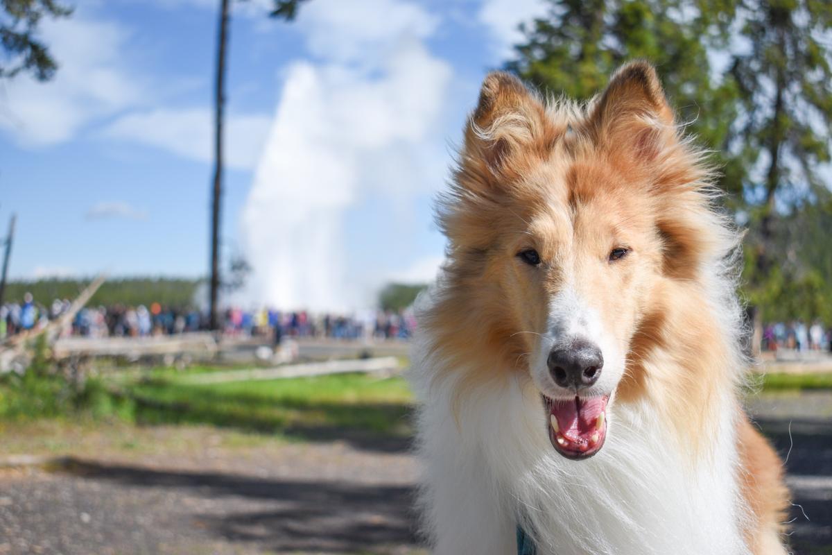
<instances>
[{"instance_id":1,"label":"whole strip of green grass and weeds from left edge to dog","mask_svg":"<svg viewBox=\"0 0 832 555\"><path fill-rule=\"evenodd\" d=\"M80 390L29 372L0 379L0 421L118 420L136 424L209 424L286 439L409 437L411 394L404 379L367 374L185 384L186 372L151 369L88 379Z\"/></svg>"}]
</instances>

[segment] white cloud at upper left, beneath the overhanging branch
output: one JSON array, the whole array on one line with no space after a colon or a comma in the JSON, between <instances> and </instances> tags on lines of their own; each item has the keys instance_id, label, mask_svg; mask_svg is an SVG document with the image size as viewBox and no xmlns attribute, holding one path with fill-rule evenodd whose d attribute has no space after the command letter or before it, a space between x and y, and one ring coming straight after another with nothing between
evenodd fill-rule
<instances>
[{"instance_id":1,"label":"white cloud at upper left, beneath the overhanging branch","mask_svg":"<svg viewBox=\"0 0 832 555\"><path fill-rule=\"evenodd\" d=\"M59 64L54 80L20 76L5 83L0 128L19 144L67 141L94 119L144 102L146 88L124 67L124 27L75 14L44 21L42 37Z\"/></svg>"}]
</instances>

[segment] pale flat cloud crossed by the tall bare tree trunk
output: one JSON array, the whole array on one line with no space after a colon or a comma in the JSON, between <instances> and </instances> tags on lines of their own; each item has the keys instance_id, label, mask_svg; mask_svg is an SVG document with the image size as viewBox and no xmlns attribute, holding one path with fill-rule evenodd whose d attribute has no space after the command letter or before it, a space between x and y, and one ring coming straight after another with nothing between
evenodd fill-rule
<instances>
[{"instance_id":1,"label":"pale flat cloud crossed by the tall bare tree trunk","mask_svg":"<svg viewBox=\"0 0 832 555\"><path fill-rule=\"evenodd\" d=\"M250 170L260 157L271 118L258 114L225 117L225 164ZM154 146L191 160L213 160L213 115L209 108L157 108L121 116L103 131L108 136Z\"/></svg>"}]
</instances>

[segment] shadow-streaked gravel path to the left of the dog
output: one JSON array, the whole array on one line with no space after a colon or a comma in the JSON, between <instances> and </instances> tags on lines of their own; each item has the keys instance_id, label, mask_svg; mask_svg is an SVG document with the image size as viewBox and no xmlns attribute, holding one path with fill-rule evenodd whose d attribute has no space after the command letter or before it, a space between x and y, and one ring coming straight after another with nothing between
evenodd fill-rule
<instances>
[{"instance_id":1,"label":"shadow-streaked gravel path to the left of the dog","mask_svg":"<svg viewBox=\"0 0 832 555\"><path fill-rule=\"evenodd\" d=\"M417 553L415 473L339 442L89 453L0 473L0 553Z\"/></svg>"}]
</instances>

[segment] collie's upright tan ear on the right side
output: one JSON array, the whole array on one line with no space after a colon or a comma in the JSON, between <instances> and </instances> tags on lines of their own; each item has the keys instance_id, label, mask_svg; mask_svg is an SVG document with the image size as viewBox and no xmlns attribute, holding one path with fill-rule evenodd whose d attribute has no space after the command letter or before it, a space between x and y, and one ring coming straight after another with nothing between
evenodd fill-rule
<instances>
[{"instance_id":1,"label":"collie's upright tan ear on the right side","mask_svg":"<svg viewBox=\"0 0 832 555\"><path fill-rule=\"evenodd\" d=\"M599 146L642 162L656 160L677 141L673 111L659 77L643 61L615 72L590 122Z\"/></svg>"}]
</instances>

